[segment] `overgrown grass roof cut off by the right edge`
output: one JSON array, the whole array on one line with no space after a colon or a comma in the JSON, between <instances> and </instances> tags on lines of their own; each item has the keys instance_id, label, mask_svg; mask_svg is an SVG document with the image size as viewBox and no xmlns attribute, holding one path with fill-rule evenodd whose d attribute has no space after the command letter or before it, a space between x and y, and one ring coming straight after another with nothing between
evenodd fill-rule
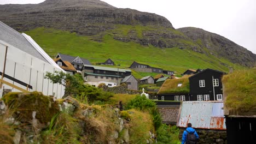
<instances>
[{"instance_id":1,"label":"overgrown grass roof cut off by the right edge","mask_svg":"<svg viewBox=\"0 0 256 144\"><path fill-rule=\"evenodd\" d=\"M224 105L229 115L256 115L256 68L223 76Z\"/></svg>"}]
</instances>

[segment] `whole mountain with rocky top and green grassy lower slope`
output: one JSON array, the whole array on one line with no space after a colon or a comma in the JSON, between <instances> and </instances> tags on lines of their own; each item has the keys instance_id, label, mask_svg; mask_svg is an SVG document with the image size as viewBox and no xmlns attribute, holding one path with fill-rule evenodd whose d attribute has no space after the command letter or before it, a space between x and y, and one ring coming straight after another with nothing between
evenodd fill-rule
<instances>
[{"instance_id":1,"label":"whole mountain with rocky top and green grassy lower slope","mask_svg":"<svg viewBox=\"0 0 256 144\"><path fill-rule=\"evenodd\" d=\"M51 57L61 52L92 63L111 58L124 68L137 61L178 74L197 68L242 69L256 61L251 51L220 35L175 29L165 17L99 0L0 5L0 21L31 35Z\"/></svg>"}]
</instances>

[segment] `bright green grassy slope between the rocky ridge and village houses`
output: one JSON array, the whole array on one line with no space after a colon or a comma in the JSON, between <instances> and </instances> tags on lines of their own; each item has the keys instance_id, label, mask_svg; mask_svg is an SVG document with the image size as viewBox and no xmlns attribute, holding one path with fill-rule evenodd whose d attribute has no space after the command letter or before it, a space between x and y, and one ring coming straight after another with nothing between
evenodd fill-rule
<instances>
[{"instance_id":1,"label":"bright green grassy slope between the rocky ridge and village houses","mask_svg":"<svg viewBox=\"0 0 256 144\"><path fill-rule=\"evenodd\" d=\"M141 32L143 26L135 26L135 31L138 37L142 37ZM124 26L121 29L118 26L113 31L121 31L126 35L129 32L130 26ZM149 29L149 28L144 28ZM113 32L112 31L112 32ZM173 30L173 33L178 33ZM127 68L133 61L147 63L152 67L159 67L167 70L176 71L178 74L192 68L212 68L221 71L228 71L228 68L220 63L228 64L235 69L242 67L232 64L224 58L216 58L206 56L202 53L197 53L191 50L180 50L178 47L171 49L160 49L154 46L142 46L137 43L124 43L112 38L110 32L103 34L102 42L97 42L94 37L81 36L75 33L60 31L49 28L37 28L26 32L30 35L51 57L55 57L58 52L80 56L89 59L90 62L104 62L107 58L111 58L116 64ZM188 43L191 43L190 41ZM137 78L146 76L143 73L133 73ZM156 74L154 74L156 75ZM154 76L153 75L153 76Z\"/></svg>"}]
</instances>

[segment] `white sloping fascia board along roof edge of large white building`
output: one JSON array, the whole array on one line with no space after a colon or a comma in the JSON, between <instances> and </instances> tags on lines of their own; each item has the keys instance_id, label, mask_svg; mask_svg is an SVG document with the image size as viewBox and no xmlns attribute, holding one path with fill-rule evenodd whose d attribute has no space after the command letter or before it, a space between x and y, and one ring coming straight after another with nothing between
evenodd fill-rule
<instances>
[{"instance_id":1,"label":"white sloping fascia board along roof edge of large white building","mask_svg":"<svg viewBox=\"0 0 256 144\"><path fill-rule=\"evenodd\" d=\"M34 41L29 35L25 33L22 33L22 35L27 39L28 42L30 42L34 49L36 49L40 53L40 55L42 55L46 59L46 61L48 61L57 69L60 69L63 73L66 73L65 70L63 70L59 65L57 65L49 55L47 55L47 53L36 43L36 41Z\"/></svg>"}]
</instances>

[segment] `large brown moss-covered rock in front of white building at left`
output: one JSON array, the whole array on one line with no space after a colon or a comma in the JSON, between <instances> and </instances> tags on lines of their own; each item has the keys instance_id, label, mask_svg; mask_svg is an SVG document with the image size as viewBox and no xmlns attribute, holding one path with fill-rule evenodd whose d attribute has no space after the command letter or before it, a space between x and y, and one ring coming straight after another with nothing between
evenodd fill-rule
<instances>
[{"instance_id":1,"label":"large brown moss-covered rock in front of white building at left","mask_svg":"<svg viewBox=\"0 0 256 144\"><path fill-rule=\"evenodd\" d=\"M4 103L14 113L14 118L20 122L31 122L33 112L40 123L46 124L59 112L59 106L53 97L48 97L40 92L16 93L11 92L3 97Z\"/></svg>"}]
</instances>

